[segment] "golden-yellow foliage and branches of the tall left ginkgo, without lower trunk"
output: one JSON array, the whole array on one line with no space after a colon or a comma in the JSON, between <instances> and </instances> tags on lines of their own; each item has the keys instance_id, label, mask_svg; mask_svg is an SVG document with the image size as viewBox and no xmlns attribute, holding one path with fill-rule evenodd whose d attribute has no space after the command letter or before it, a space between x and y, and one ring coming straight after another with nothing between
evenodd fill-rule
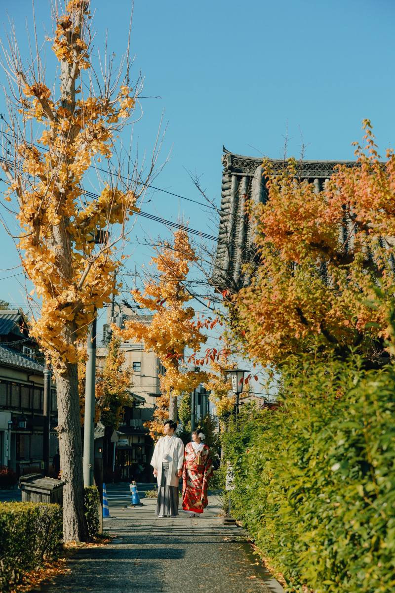
<instances>
[{"instance_id":1,"label":"golden-yellow foliage and branches of the tall left ginkgo, without lower trunk","mask_svg":"<svg viewBox=\"0 0 395 593\"><path fill-rule=\"evenodd\" d=\"M77 342L86 337L94 307L110 302L114 291L120 258L109 235L95 250L95 231L113 224L123 228L137 210L132 189L105 183L92 200L82 188L92 161L113 155L115 137L136 103L136 88L122 78L117 89L96 96L92 87L87 94L82 85L76 88L82 72L91 69L88 7L89 2L70 0L65 14L54 17L53 38L46 38L62 65L59 97L40 66L38 74L34 68L23 74L17 57L9 62L22 123L12 129L15 162L2 163L9 187L5 199L16 196L18 249L35 287L31 295L36 292L39 301L30 334L56 373L77 362ZM18 135L28 122L40 130L34 144L30 133Z\"/></svg>"}]
</instances>

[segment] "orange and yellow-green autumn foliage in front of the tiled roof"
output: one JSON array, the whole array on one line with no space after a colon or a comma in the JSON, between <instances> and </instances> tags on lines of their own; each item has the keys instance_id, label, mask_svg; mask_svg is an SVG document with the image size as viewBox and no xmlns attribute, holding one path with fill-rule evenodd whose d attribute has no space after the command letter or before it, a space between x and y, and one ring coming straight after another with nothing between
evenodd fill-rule
<instances>
[{"instance_id":1,"label":"orange and yellow-green autumn foliage in front of the tiled roof","mask_svg":"<svg viewBox=\"0 0 395 593\"><path fill-rule=\"evenodd\" d=\"M368 120L364 130L355 166L337 165L320 192L298 180L295 160L279 175L264 162L268 200L249 206L259 266L229 302L233 337L262 365L327 349L383 352L395 291L395 155L381 162Z\"/></svg>"}]
</instances>

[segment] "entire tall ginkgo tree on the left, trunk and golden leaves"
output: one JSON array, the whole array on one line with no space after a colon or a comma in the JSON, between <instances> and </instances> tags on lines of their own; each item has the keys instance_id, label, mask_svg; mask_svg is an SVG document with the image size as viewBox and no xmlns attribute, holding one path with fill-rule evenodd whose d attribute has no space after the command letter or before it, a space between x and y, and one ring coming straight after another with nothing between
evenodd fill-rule
<instances>
[{"instance_id":1,"label":"entire tall ginkgo tree on the left, trunk and golden leaves","mask_svg":"<svg viewBox=\"0 0 395 593\"><path fill-rule=\"evenodd\" d=\"M137 211L136 180L143 181L142 171L136 163L131 167L127 163L126 170L133 174L121 177L115 142L127 123L140 117L134 111L141 81L130 82L129 49L115 67L114 56L108 58L105 47L99 64L103 82L99 83L91 62L89 1L70 0L63 13L59 6L55 3L53 8L53 36L46 40L56 57L52 82L47 72L51 62L40 43L34 43L37 55L27 66L14 29L8 34L8 47L2 45L10 120L4 133L11 146L2 168L9 184L5 200L14 204L9 210L20 228L17 247L23 271L34 285L30 298L37 295L30 334L52 362L56 375L57 432L65 479L63 537L65 541L82 541L88 538L88 530L83 503L78 343L86 339L95 309L110 301L114 273L121 263L117 247ZM154 149L148 178L157 154ZM105 166L113 173L103 181L96 168L92 175L101 190L92 197L84 192L82 182L91 165L101 159L107 160ZM110 235L111 227L116 230ZM98 234L102 243L96 246Z\"/></svg>"}]
</instances>

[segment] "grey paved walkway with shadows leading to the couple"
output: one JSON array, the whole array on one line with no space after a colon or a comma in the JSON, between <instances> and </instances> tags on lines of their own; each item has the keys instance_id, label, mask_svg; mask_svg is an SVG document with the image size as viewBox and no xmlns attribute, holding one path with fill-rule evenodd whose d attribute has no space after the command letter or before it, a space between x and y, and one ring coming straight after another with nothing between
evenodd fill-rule
<instances>
[{"instance_id":1,"label":"grey paved walkway with shadows leading to the couple","mask_svg":"<svg viewBox=\"0 0 395 593\"><path fill-rule=\"evenodd\" d=\"M75 554L68 575L41 587L45 593L280 593L237 527L223 525L214 496L201 518L155 517L156 499L127 509L128 484L107 488L110 519L104 529L115 536L108 546Z\"/></svg>"}]
</instances>

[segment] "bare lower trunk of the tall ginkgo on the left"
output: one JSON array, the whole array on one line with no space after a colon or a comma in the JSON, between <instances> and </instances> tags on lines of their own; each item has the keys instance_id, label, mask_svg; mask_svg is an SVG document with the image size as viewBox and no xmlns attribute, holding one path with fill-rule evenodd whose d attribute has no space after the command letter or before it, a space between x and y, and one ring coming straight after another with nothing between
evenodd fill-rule
<instances>
[{"instance_id":1,"label":"bare lower trunk of the tall ginkgo on the left","mask_svg":"<svg viewBox=\"0 0 395 593\"><path fill-rule=\"evenodd\" d=\"M59 418L59 453L63 487L63 540L88 541L84 514L84 479L82 477L81 424L79 420L77 364L67 364L56 379Z\"/></svg>"}]
</instances>

